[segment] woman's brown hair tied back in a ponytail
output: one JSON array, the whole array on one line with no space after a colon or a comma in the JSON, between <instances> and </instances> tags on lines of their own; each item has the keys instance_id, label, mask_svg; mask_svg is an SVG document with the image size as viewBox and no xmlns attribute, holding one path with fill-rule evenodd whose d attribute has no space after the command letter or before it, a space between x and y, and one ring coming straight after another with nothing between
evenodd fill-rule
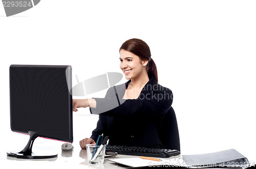
<instances>
[{"instance_id":1,"label":"woman's brown hair tied back in a ponytail","mask_svg":"<svg viewBox=\"0 0 256 169\"><path fill-rule=\"evenodd\" d=\"M129 39L122 44L119 51L121 49L136 54L142 61L148 61L146 65L147 74L152 75L158 81L157 66L151 58L150 47L143 40Z\"/></svg>"}]
</instances>

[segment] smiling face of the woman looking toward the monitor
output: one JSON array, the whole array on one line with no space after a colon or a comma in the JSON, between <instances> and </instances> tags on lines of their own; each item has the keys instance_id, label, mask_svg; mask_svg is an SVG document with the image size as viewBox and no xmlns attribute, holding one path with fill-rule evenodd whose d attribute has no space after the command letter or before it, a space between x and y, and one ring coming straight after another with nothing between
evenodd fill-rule
<instances>
[{"instance_id":1,"label":"smiling face of the woman looking toward the monitor","mask_svg":"<svg viewBox=\"0 0 256 169\"><path fill-rule=\"evenodd\" d=\"M126 79L135 79L145 72L143 64L147 64L146 61L141 61L140 58L126 50L120 50L120 68L123 71Z\"/></svg>"}]
</instances>

